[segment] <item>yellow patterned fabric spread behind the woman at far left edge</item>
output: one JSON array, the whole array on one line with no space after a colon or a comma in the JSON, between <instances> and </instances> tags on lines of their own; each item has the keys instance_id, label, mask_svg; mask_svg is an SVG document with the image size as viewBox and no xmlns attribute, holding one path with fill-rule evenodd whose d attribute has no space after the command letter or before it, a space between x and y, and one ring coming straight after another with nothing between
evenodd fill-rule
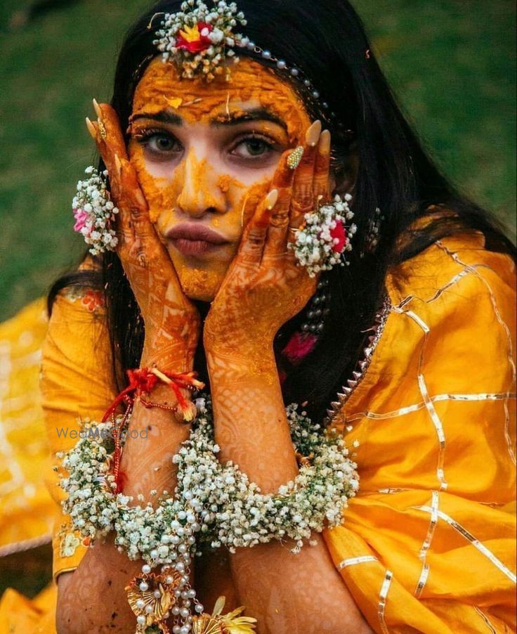
<instances>
[{"instance_id":1,"label":"yellow patterned fabric spread behind the woman at far left edge","mask_svg":"<svg viewBox=\"0 0 517 634\"><path fill-rule=\"evenodd\" d=\"M0 324L0 559L50 542L53 500L41 479L48 446L39 395L43 299Z\"/></svg>"}]
</instances>

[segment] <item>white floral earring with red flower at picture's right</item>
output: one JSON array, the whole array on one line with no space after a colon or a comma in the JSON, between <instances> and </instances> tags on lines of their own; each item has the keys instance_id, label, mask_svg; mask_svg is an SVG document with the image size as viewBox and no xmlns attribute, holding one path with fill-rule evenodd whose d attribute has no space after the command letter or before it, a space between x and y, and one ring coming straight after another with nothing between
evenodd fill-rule
<instances>
[{"instance_id":1,"label":"white floral earring with red flower at picture's right","mask_svg":"<svg viewBox=\"0 0 517 634\"><path fill-rule=\"evenodd\" d=\"M336 264L349 264L345 252L352 250L351 238L357 231L355 224L346 225L354 215L348 207L351 200L350 194L344 198L336 195L334 202L305 214L302 228L295 231L295 240L289 243L289 248L311 278L321 271L330 271Z\"/></svg>"}]
</instances>

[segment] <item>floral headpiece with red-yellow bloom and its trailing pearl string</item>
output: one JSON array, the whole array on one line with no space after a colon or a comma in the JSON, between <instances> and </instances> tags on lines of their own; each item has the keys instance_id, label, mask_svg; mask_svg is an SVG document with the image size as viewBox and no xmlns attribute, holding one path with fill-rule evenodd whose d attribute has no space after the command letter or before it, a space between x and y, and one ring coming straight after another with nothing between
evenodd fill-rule
<instances>
[{"instance_id":1,"label":"floral headpiece with red-yellow bloom and its trailing pearl string","mask_svg":"<svg viewBox=\"0 0 517 634\"><path fill-rule=\"evenodd\" d=\"M325 119L336 116L334 112L328 112L327 103L320 101L320 92L310 79L301 77L303 73L299 68L288 66L285 60L276 58L270 51L250 41L249 37L235 32L237 25L247 25L244 13L237 9L235 2L228 4L225 0L214 0L214 6L209 8L203 0L187 0L181 4L178 13L155 13L148 25L149 30L157 15L163 18L153 44L162 53L164 62L174 62L185 79L202 77L211 82L221 75L229 79L231 66L239 60L235 49L246 48L275 64L278 70L290 77L300 79L310 100L322 110Z\"/></svg>"}]
</instances>

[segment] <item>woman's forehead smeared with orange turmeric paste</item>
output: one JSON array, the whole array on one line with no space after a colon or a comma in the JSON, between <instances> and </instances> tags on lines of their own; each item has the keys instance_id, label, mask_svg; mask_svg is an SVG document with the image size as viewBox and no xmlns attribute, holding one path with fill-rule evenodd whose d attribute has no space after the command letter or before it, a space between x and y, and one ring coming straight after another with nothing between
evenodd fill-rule
<instances>
[{"instance_id":1,"label":"woman's forehead smeared with orange turmeric paste","mask_svg":"<svg viewBox=\"0 0 517 634\"><path fill-rule=\"evenodd\" d=\"M301 138L310 125L303 101L291 85L273 70L242 58L232 67L229 81L183 79L176 67L157 58L150 63L136 86L133 118L159 112L175 112L187 122L212 122L242 112L269 113L284 122L292 141Z\"/></svg>"}]
</instances>

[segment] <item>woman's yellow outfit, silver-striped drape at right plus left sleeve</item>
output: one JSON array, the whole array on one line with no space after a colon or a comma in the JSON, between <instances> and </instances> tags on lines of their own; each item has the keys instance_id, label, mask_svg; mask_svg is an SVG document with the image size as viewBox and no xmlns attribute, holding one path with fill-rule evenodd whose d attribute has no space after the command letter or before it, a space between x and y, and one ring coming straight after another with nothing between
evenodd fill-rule
<instances>
[{"instance_id":1,"label":"woman's yellow outfit, silver-striped drape at right plus left sleeve","mask_svg":"<svg viewBox=\"0 0 517 634\"><path fill-rule=\"evenodd\" d=\"M481 236L447 238L393 269L386 290L377 346L332 420L355 452L360 491L343 524L324 532L325 541L377 632L510 632L516 628L513 261L485 250ZM90 309L80 297L59 297L44 347L54 459L76 442L70 430L79 429L77 418L100 417L114 393L106 333L95 318L102 309ZM48 484L60 499L55 474ZM55 577L77 567L87 548L56 510ZM18 613L32 609L18 597ZM46 612L40 604L42 619L53 602L55 593ZM3 600L0 623L5 612Z\"/></svg>"}]
</instances>

